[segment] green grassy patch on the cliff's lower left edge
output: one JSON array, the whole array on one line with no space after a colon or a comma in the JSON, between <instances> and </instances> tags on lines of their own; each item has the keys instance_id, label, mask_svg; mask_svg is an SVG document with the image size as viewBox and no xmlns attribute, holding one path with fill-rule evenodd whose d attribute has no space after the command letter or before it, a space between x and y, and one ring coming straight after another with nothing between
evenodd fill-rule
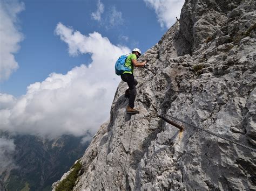
<instances>
[{"instance_id":1,"label":"green grassy patch on the cliff's lower left edge","mask_svg":"<svg viewBox=\"0 0 256 191\"><path fill-rule=\"evenodd\" d=\"M64 180L62 180L56 188L56 191L69 191L72 190L75 186L76 180L78 178L78 172L82 168L82 164L80 161L77 161L71 168L71 172Z\"/></svg>"}]
</instances>

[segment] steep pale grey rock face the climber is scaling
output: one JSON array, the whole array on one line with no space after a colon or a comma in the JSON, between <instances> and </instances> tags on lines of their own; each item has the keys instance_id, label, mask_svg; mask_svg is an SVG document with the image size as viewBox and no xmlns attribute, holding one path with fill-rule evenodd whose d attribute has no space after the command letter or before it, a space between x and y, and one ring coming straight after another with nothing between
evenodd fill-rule
<instances>
[{"instance_id":1,"label":"steep pale grey rock face the climber is scaling","mask_svg":"<svg viewBox=\"0 0 256 191\"><path fill-rule=\"evenodd\" d=\"M136 68L135 107L121 82L110 121L82 158L74 190L255 190L256 152L158 112L256 147L255 1L186 0L179 23Z\"/></svg>"}]
</instances>

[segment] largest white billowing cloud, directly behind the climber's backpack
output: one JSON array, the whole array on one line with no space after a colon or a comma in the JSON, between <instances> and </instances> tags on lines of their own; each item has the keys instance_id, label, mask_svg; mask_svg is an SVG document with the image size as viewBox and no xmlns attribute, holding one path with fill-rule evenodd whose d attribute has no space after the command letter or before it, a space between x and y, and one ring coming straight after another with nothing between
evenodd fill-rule
<instances>
[{"instance_id":1,"label":"largest white billowing cloud, directly behind the climber's backpack","mask_svg":"<svg viewBox=\"0 0 256 191\"><path fill-rule=\"evenodd\" d=\"M0 110L3 130L48 138L88 132L93 135L109 118L120 82L120 77L114 74L114 63L118 56L131 50L111 44L98 32L86 36L62 23L58 23L55 33L68 44L70 55L88 53L91 63L75 67L67 74L50 74L43 82L31 84L17 100L12 101L9 96L6 106L15 104Z\"/></svg>"}]
</instances>

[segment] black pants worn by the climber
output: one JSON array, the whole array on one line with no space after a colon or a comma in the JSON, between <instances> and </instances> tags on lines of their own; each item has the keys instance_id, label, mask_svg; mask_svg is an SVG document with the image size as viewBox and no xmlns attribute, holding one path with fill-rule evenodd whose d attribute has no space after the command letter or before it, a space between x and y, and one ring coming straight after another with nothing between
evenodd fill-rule
<instances>
[{"instance_id":1,"label":"black pants worn by the climber","mask_svg":"<svg viewBox=\"0 0 256 191\"><path fill-rule=\"evenodd\" d=\"M129 88L125 91L125 94L130 94L129 97L129 106L134 108L134 101L137 94L136 85L138 84L137 80L134 79L133 74L122 74L121 79L124 82L127 82Z\"/></svg>"}]
</instances>

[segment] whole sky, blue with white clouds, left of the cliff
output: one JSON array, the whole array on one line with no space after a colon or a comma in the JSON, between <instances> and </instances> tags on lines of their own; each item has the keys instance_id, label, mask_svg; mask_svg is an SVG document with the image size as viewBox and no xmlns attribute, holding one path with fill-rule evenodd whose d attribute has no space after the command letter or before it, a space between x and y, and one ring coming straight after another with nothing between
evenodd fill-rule
<instances>
[{"instance_id":1,"label":"whole sky, blue with white clouds, left of the cliff","mask_svg":"<svg viewBox=\"0 0 256 191\"><path fill-rule=\"evenodd\" d=\"M114 61L157 44L183 3L1 0L0 126L42 136L95 132L120 82Z\"/></svg>"}]
</instances>

